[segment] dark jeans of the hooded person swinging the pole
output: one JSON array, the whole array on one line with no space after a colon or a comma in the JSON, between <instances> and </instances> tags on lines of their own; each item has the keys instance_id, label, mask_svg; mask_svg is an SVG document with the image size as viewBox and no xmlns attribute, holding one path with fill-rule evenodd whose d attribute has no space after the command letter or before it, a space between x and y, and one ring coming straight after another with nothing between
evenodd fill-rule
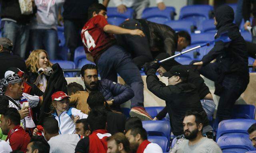
<instances>
[{"instance_id":1,"label":"dark jeans of the hooded person swinging the pole","mask_svg":"<svg viewBox=\"0 0 256 153\"><path fill-rule=\"evenodd\" d=\"M219 64L224 65L224 63L209 63L200 69L200 74L216 82L220 77L220 75L216 73L216 68L220 67ZM217 122L231 118L231 110L236 100L246 89L248 83L249 80L235 74L224 76L222 81L223 90L219 93L220 100L216 114Z\"/></svg>"}]
</instances>

